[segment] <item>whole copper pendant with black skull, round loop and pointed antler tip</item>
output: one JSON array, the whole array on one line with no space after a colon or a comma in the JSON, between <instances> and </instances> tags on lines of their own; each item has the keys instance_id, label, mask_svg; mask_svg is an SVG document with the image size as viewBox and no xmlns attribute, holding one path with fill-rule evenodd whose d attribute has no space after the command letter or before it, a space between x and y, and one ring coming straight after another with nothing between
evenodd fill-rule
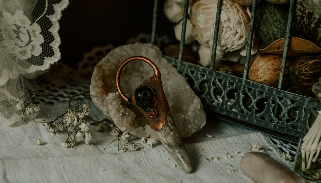
<instances>
[{"instance_id":1,"label":"whole copper pendant with black skull, round loop and pointed antler tip","mask_svg":"<svg viewBox=\"0 0 321 183\"><path fill-rule=\"evenodd\" d=\"M154 75L140 84L135 89L132 98L129 99L120 88L120 73L126 64L134 60L148 63L152 66ZM151 128L155 130L157 137L165 146L170 156L182 170L190 173L192 166L173 118L170 115L169 105L161 83L160 71L156 65L145 57L135 56L128 58L118 68L116 87L119 95L127 102L127 107L130 109L137 107L139 109L148 120Z\"/></svg>"}]
</instances>

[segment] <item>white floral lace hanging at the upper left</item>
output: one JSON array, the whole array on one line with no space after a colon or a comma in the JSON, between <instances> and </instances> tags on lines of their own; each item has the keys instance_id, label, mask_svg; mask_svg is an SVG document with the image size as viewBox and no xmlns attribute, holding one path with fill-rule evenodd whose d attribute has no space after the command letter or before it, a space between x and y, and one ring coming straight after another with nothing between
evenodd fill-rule
<instances>
[{"instance_id":1,"label":"white floral lace hanging at the upper left","mask_svg":"<svg viewBox=\"0 0 321 183\"><path fill-rule=\"evenodd\" d=\"M0 0L0 123L21 120L15 105L26 92L23 77L35 78L60 59L58 20L68 4Z\"/></svg>"}]
</instances>

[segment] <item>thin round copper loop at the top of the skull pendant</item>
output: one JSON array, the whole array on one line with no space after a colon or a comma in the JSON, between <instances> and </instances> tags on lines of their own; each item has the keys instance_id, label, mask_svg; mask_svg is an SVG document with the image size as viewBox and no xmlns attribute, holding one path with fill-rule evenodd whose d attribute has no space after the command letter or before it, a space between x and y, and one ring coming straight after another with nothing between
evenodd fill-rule
<instances>
[{"instance_id":1,"label":"thin round copper loop at the top of the skull pendant","mask_svg":"<svg viewBox=\"0 0 321 183\"><path fill-rule=\"evenodd\" d=\"M142 57L142 56L134 56L134 57L130 57L127 60L125 60L118 68L117 70L117 74L116 74L116 87L117 90L119 92L119 95L121 96L121 98L123 98L126 103L127 103L127 108L129 109L133 109L134 105L132 105L132 99L126 97L126 95L124 94L124 92L122 91L121 87L120 87L120 73L123 70L123 68L129 63L132 62L134 60L141 60L144 61L146 63L148 63L150 66L152 66L153 70L154 70L154 76L160 76L160 71L159 69L156 67L156 65L154 64L154 62L152 62L152 60L147 59L146 57Z\"/></svg>"}]
</instances>

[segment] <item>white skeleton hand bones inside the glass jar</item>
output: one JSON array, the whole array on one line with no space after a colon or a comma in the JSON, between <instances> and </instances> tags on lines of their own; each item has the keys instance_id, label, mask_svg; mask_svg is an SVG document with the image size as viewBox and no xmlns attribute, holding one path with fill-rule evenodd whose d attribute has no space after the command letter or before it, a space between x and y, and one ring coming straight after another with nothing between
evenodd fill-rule
<instances>
[{"instance_id":1,"label":"white skeleton hand bones inside the glass jar","mask_svg":"<svg viewBox=\"0 0 321 183\"><path fill-rule=\"evenodd\" d=\"M317 119L312 124L310 130L303 138L300 147L302 154L302 168L309 169L312 162L316 162L321 151L321 111L318 111ZM305 161L304 161L305 160ZM306 165L305 162L308 162Z\"/></svg>"}]
</instances>

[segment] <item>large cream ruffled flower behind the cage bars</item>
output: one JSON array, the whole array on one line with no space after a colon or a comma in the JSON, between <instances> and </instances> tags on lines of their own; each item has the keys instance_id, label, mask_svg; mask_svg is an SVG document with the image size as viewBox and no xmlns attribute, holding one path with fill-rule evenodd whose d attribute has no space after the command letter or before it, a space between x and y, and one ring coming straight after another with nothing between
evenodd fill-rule
<instances>
[{"instance_id":1,"label":"large cream ruffled flower behind the cage bars","mask_svg":"<svg viewBox=\"0 0 321 183\"><path fill-rule=\"evenodd\" d=\"M201 0L193 5L189 13L191 23L195 25L193 36L210 50L213 45L216 9L217 0ZM249 7L241 6L233 0L223 1L216 51L219 58L223 58L227 52L238 51L239 54L246 48L249 25Z\"/></svg>"}]
</instances>

